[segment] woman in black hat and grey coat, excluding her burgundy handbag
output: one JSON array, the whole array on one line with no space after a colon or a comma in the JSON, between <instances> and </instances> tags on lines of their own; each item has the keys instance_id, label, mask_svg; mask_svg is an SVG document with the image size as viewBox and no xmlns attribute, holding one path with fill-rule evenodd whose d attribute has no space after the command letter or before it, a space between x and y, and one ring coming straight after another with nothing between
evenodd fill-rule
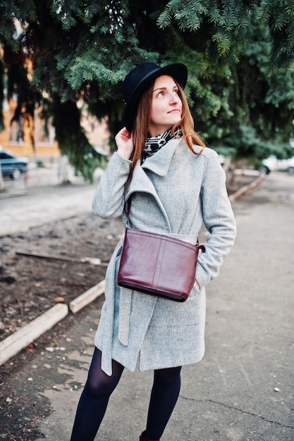
<instances>
[{"instance_id":1,"label":"woman in black hat and grey coat, excluding her burgundy handbag","mask_svg":"<svg viewBox=\"0 0 294 441\"><path fill-rule=\"evenodd\" d=\"M196 243L207 228L195 285L186 302L118 287L123 239L106 273L105 303L71 441L90 441L99 429L124 368L154 370L147 426L140 441L159 440L180 392L180 369L204 355L205 290L235 239L225 174L215 151L193 130L183 87L187 68L142 63L125 77L125 128L94 195L102 218L121 216L130 195L129 226ZM142 254L144 259L144 254Z\"/></svg>"}]
</instances>

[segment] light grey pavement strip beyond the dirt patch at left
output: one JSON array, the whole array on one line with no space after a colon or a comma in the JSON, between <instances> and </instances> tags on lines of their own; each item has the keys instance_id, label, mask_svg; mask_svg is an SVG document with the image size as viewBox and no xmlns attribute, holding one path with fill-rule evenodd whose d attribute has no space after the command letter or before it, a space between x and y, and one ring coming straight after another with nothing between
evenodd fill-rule
<instances>
[{"instance_id":1,"label":"light grey pavement strip beyond the dirt patch at left","mask_svg":"<svg viewBox=\"0 0 294 441\"><path fill-rule=\"evenodd\" d=\"M49 222L91 211L94 191L103 170L94 173L94 184L73 175L71 183L60 184L58 164L32 168L27 180L6 180L6 192L0 193L0 237L26 231Z\"/></svg>"}]
</instances>

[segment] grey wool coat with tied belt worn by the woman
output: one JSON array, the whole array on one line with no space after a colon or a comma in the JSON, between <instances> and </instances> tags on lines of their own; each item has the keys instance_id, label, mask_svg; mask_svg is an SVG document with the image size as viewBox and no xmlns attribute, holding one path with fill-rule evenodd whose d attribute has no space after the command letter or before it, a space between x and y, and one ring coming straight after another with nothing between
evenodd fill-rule
<instances>
[{"instance_id":1,"label":"grey wool coat with tied belt worn by the woman","mask_svg":"<svg viewBox=\"0 0 294 441\"><path fill-rule=\"evenodd\" d=\"M195 146L195 151L200 151ZM216 152L193 154L183 139L171 139L141 165L125 189L130 161L115 153L102 175L92 210L102 218L123 215L132 194L129 226L196 243L204 224L206 251L197 262L196 280L186 302L160 299L118 287L116 276L123 237L106 272L105 302L95 335L102 370L111 375L111 359L141 371L182 366L204 355L205 285L216 278L235 240L235 219L225 173ZM142 251L142 258L144 254Z\"/></svg>"}]
</instances>

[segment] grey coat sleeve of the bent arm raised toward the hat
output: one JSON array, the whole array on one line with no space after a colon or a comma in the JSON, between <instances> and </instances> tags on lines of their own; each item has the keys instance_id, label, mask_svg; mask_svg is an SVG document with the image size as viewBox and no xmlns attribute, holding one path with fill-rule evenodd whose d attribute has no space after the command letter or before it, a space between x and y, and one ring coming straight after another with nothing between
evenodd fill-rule
<instances>
[{"instance_id":1,"label":"grey coat sleeve of the bent arm raised toward the hat","mask_svg":"<svg viewBox=\"0 0 294 441\"><path fill-rule=\"evenodd\" d=\"M116 218L123 213L125 182L131 161L114 153L102 175L92 201L92 211L103 219Z\"/></svg>"}]
</instances>

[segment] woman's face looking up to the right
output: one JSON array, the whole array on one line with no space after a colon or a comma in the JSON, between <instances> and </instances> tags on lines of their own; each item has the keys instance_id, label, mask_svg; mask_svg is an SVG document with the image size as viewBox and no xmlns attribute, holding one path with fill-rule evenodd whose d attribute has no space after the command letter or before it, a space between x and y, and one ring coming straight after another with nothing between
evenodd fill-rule
<instances>
[{"instance_id":1,"label":"woman's face looking up to the right","mask_svg":"<svg viewBox=\"0 0 294 441\"><path fill-rule=\"evenodd\" d=\"M182 101L178 95L178 86L169 75L162 75L154 82L152 94L151 136L160 135L178 123L182 116Z\"/></svg>"}]
</instances>

